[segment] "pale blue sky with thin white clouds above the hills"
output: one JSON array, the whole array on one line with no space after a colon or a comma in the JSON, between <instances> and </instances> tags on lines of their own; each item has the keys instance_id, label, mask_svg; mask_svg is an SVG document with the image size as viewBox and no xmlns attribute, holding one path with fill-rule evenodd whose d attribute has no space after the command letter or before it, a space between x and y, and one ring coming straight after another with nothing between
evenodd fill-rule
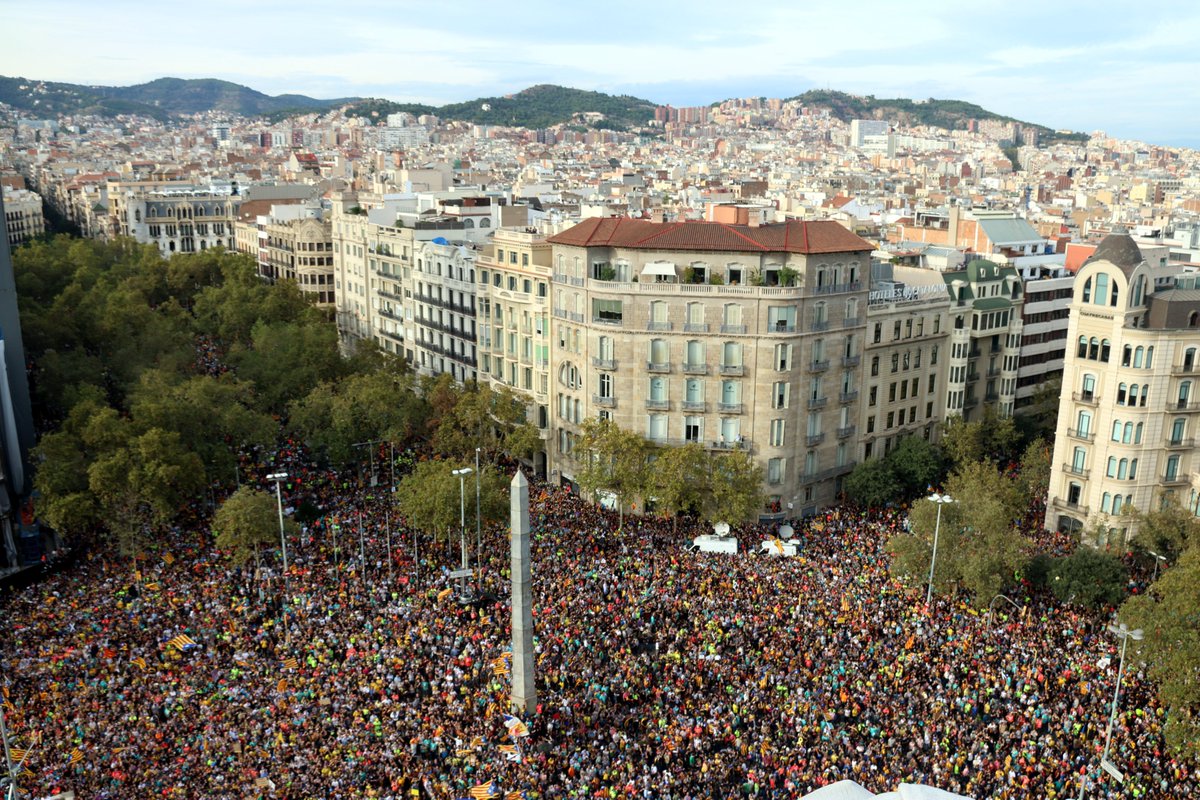
<instances>
[{"instance_id":1,"label":"pale blue sky with thin white clouds above the hills","mask_svg":"<svg viewBox=\"0 0 1200 800\"><path fill-rule=\"evenodd\" d=\"M433 104L539 83L656 103L835 89L1200 148L1190 0L6 0L0 74Z\"/></svg>"}]
</instances>

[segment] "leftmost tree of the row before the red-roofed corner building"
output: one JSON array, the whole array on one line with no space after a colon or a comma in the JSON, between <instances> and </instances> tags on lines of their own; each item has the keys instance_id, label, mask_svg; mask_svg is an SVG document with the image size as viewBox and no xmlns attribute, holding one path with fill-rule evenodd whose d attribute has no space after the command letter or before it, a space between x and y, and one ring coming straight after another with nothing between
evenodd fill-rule
<instances>
[{"instance_id":1,"label":"leftmost tree of the row before the red-roofed corner building","mask_svg":"<svg viewBox=\"0 0 1200 800\"><path fill-rule=\"evenodd\" d=\"M620 525L625 505L647 494L649 443L612 420L589 419L575 441L575 480L587 494L608 492L617 504Z\"/></svg>"}]
</instances>

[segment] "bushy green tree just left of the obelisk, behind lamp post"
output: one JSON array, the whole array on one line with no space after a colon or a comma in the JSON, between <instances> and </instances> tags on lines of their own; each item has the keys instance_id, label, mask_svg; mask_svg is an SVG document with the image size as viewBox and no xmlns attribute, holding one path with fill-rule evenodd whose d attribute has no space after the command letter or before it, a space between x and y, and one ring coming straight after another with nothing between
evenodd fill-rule
<instances>
[{"instance_id":1,"label":"bushy green tree just left of the obelisk, behind lamp post","mask_svg":"<svg viewBox=\"0 0 1200 800\"><path fill-rule=\"evenodd\" d=\"M466 467L467 464L463 464ZM422 461L396 487L400 512L416 530L444 539L458 528L460 511L464 511L467 527L474 527L474 480L468 475L462 487L454 462ZM474 468L473 468L474 469ZM466 489L466 505L460 507L460 488ZM498 523L509 510L509 481L496 468L487 465L480 475L480 516L482 524Z\"/></svg>"}]
</instances>

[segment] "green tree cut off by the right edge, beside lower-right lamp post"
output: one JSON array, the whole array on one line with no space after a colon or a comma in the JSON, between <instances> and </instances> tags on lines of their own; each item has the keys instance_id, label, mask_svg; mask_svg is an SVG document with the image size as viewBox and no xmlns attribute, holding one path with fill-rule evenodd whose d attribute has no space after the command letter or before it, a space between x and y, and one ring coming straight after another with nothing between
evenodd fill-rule
<instances>
[{"instance_id":1,"label":"green tree cut off by the right edge, beside lower-right lamp post","mask_svg":"<svg viewBox=\"0 0 1200 800\"><path fill-rule=\"evenodd\" d=\"M1121 606L1121 619L1146 632L1139 656L1146 660L1166 708L1168 746L1200 758L1200 541L1190 539L1152 590Z\"/></svg>"}]
</instances>

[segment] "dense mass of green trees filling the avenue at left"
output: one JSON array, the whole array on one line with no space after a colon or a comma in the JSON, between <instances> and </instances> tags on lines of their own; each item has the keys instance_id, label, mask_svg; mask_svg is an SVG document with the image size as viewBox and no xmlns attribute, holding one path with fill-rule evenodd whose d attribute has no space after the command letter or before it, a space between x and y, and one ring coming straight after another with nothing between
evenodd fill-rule
<instances>
[{"instance_id":1,"label":"dense mass of green trees filling the avenue at left","mask_svg":"<svg viewBox=\"0 0 1200 800\"><path fill-rule=\"evenodd\" d=\"M14 253L38 426L38 512L67 536L144 547L241 455L299 439L344 464L384 440L451 459L540 445L515 395L419 379L370 343L352 357L329 315L222 249L56 236Z\"/></svg>"}]
</instances>

